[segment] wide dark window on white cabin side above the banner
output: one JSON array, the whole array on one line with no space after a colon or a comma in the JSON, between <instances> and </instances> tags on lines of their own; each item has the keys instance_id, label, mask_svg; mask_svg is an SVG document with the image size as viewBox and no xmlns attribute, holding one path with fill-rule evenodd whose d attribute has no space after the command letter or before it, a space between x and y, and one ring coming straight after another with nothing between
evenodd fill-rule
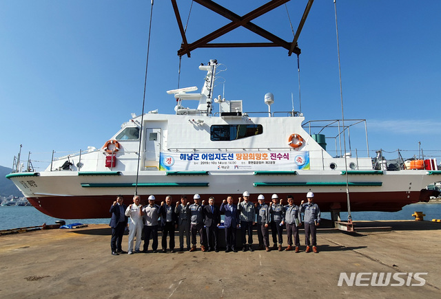
<instances>
[{"instance_id":1,"label":"wide dark window on white cabin side above the banner","mask_svg":"<svg viewBox=\"0 0 441 299\"><path fill-rule=\"evenodd\" d=\"M262 133L261 124L215 124L210 127L210 140L232 141Z\"/></svg>"}]
</instances>

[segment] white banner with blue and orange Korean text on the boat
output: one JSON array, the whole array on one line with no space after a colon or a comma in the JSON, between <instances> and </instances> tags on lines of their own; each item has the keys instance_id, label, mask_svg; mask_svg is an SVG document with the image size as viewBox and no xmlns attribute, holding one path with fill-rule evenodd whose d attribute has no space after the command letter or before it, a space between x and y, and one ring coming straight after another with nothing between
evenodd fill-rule
<instances>
[{"instance_id":1,"label":"white banner with blue and orange Korean text on the boat","mask_svg":"<svg viewBox=\"0 0 441 299\"><path fill-rule=\"evenodd\" d=\"M309 152L161 153L160 170L309 169Z\"/></svg>"}]
</instances>

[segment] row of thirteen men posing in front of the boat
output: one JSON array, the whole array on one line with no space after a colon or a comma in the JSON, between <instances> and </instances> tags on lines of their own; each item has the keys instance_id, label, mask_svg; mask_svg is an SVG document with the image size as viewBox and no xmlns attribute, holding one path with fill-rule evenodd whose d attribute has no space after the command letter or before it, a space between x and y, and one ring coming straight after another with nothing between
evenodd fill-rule
<instances>
[{"instance_id":1,"label":"row of thirteen men posing in front of the boat","mask_svg":"<svg viewBox=\"0 0 441 299\"><path fill-rule=\"evenodd\" d=\"M123 197L116 197L116 201L110 207L112 218L111 248L112 255L133 254L147 252L150 239L152 250L158 252L158 228L161 225L162 252L167 252L167 236L169 238L170 252L175 251L174 232L178 229L179 250L186 248L189 252L196 251L196 236L199 234L201 251L219 252L218 231L220 214L224 214L223 228L225 231L225 252L237 252L236 232L240 229L242 250L254 251L253 227L257 224L259 250L271 251L269 244L269 228L271 228L274 246L272 249L283 251L283 225L287 231L288 246L285 251L294 250L300 252L300 239L298 229L305 227L305 252L318 253L316 244L316 227L320 224L320 209L314 203L314 193L307 193L307 202L301 201L300 206L294 204L294 197L287 196L287 205L283 205L283 199L274 194L271 203L265 203L263 195L258 196L258 203L249 201L249 192L243 192L238 198L237 205L233 203L233 197L224 199L220 207L214 205L214 197L209 197L208 204L196 194L194 203L190 204L185 195L181 196L181 202L172 206L172 197L168 195L161 206L155 203L154 195L148 197L148 204L141 205L141 197L135 195L133 203L125 206ZM302 217L303 214L303 217ZM159 219L161 218L161 221ZM303 219L302 219L303 218ZM129 223L128 252L121 248L124 230ZM141 251L141 236L144 237L143 250ZM185 245L184 247L184 236ZM294 236L294 242L293 242ZM152 238L150 238L152 237ZM136 239L136 243L134 241Z\"/></svg>"}]
</instances>

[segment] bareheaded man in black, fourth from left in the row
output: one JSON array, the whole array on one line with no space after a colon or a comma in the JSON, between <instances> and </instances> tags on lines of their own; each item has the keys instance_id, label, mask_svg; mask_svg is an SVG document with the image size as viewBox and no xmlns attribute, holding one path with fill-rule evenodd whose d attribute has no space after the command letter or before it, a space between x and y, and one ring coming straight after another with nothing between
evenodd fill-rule
<instances>
[{"instance_id":1,"label":"bareheaded man in black, fourth from left in the row","mask_svg":"<svg viewBox=\"0 0 441 299\"><path fill-rule=\"evenodd\" d=\"M167 234L170 241L170 252L174 252L174 230L177 228L177 217L172 207L172 196L167 195L164 201L161 202L161 208L159 208L159 214L161 214L161 227L163 229L163 238L161 245L163 246L163 252L167 252Z\"/></svg>"}]
</instances>

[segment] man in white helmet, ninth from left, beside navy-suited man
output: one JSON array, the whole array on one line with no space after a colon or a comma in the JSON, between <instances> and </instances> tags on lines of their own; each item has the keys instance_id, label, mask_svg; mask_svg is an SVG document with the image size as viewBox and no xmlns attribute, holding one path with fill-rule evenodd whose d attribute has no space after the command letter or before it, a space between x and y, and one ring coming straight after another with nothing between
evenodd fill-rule
<instances>
[{"instance_id":1,"label":"man in white helmet, ninth from left, beside navy-suited man","mask_svg":"<svg viewBox=\"0 0 441 299\"><path fill-rule=\"evenodd\" d=\"M256 217L256 210L254 210L254 204L249 202L249 192L243 192L243 202L239 197L239 202L237 204L237 210L240 212L240 231L242 232L242 251L247 251L247 239L246 233L248 234L248 248L250 252L253 252L253 225Z\"/></svg>"}]
</instances>

